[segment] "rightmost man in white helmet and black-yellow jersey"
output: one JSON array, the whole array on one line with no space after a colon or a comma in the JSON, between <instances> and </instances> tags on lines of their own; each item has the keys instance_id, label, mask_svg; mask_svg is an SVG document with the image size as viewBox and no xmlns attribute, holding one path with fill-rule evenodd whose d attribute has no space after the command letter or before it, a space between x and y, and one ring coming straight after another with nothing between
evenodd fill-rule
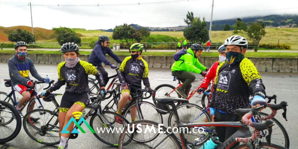
<instances>
[{"instance_id":1,"label":"rightmost man in white helmet and black-yellow jersey","mask_svg":"<svg viewBox=\"0 0 298 149\"><path fill-rule=\"evenodd\" d=\"M215 122L239 121L236 109L250 108L250 105L267 105L260 73L249 59L244 58L247 45L246 38L239 35L225 40L226 61L218 66L209 104L210 114ZM254 96L251 103L250 95ZM233 127L215 129L221 142L237 131L237 128Z\"/></svg>"}]
</instances>

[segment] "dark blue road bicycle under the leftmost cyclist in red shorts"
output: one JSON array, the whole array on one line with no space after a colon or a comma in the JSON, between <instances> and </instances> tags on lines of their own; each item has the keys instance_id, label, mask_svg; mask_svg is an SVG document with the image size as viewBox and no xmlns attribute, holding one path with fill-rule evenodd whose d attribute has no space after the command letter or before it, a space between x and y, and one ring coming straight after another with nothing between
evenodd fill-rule
<instances>
[{"instance_id":1,"label":"dark blue road bicycle under the leftmost cyclist in red shorts","mask_svg":"<svg viewBox=\"0 0 298 149\"><path fill-rule=\"evenodd\" d=\"M11 87L11 92L7 94L7 93L1 91L0 92L0 100L6 101L6 102L8 102L8 103L10 103L10 104L12 104L13 106L16 107L17 105L15 105L15 103L16 103L15 89L11 85L11 80L10 79L4 79L4 81L5 81L4 84L5 84L6 87ZM55 80L52 80L51 82L49 82L48 87L44 88L44 90L49 89L51 84L54 83L54 82L55 82ZM21 111L23 111L23 109L25 108L27 103L29 103L29 104L27 106L27 111L26 112L29 112L34 108L54 109L54 108L59 107L59 104L57 103L55 97L59 96L59 95L62 95L62 94L50 94L47 98L42 98L40 95L38 95L36 85L37 84L42 84L42 83L44 83L44 82L34 81L33 86L26 90L26 91L31 91L32 90L31 97L34 96L34 98L32 100L28 100L27 102L25 102L24 105L21 107ZM42 87L43 86L41 86L41 88ZM12 96L13 96L13 98L12 98ZM52 103L52 104L50 104L50 103Z\"/></svg>"}]
</instances>

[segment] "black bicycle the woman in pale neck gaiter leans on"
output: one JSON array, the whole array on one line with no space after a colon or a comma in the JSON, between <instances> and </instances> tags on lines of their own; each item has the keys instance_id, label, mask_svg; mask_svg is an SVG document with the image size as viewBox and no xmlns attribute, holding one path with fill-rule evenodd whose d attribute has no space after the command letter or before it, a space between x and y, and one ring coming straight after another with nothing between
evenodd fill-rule
<instances>
[{"instance_id":1,"label":"black bicycle the woman in pale neck gaiter leans on","mask_svg":"<svg viewBox=\"0 0 298 149\"><path fill-rule=\"evenodd\" d=\"M95 126L100 127L99 130L103 129L100 135L97 135L97 139L101 142L110 145L110 146L118 146L118 139L115 141L114 138L119 138L117 133L111 133L114 128L122 128L123 124L119 124L116 122L115 117L120 117L123 122L128 124L128 121L122 117L121 115L112 112L112 111L103 111L101 110L100 101L103 99L101 95L91 97L93 102L91 103L90 111L87 113L82 112L80 117L77 119L87 119L89 116L92 116L90 119L90 126L94 130ZM44 145L57 145L60 143L59 139L59 124L58 124L58 112L59 109L54 111L46 110L46 109L35 109L28 112L23 119L23 128L28 136L34 141L44 144ZM32 122L31 117L39 117L40 121L38 123ZM99 118L99 120L97 120ZM28 120L27 120L28 119ZM83 124L83 121L80 122L79 126ZM86 125L86 124L85 124ZM79 127L75 125L74 129L78 129ZM95 131L94 131L95 132ZM95 134L94 134L95 135ZM111 136L113 135L113 136ZM71 133L69 139L76 139L78 137L77 133ZM111 139L111 140L110 140Z\"/></svg>"}]
</instances>

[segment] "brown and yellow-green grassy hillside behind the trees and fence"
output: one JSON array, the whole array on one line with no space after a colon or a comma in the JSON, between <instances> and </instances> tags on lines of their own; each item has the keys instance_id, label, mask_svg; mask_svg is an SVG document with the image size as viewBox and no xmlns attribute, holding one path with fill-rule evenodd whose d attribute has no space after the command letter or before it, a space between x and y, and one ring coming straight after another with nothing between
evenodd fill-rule
<instances>
[{"instance_id":1,"label":"brown and yellow-green grassy hillside behind the trees and fence","mask_svg":"<svg viewBox=\"0 0 298 149\"><path fill-rule=\"evenodd\" d=\"M15 26L15 27L1 27L0 26L0 42L10 43L8 35L16 29L26 29L31 32L31 27ZM52 30L47 30L39 27L34 27L34 35L36 42L57 42L56 35ZM111 38L112 32L104 32L102 30L85 30L74 28L78 35L80 35L82 42L95 42L99 35L107 35ZM266 36L262 38L260 43L290 44L292 49L298 48L298 28L268 28L266 29ZM211 40L213 42L223 42L227 37L232 35L232 31L212 31ZM247 35L243 35L247 38ZM178 42L184 39L183 32L151 32L148 42ZM119 40L112 40L112 43L119 43Z\"/></svg>"}]
</instances>

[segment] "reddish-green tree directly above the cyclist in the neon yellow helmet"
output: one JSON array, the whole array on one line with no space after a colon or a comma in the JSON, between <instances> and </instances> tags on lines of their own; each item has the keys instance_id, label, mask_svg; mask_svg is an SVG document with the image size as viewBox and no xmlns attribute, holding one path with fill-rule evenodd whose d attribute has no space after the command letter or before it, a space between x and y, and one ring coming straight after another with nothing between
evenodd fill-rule
<instances>
[{"instance_id":1,"label":"reddish-green tree directly above the cyclist in the neon yellow helmet","mask_svg":"<svg viewBox=\"0 0 298 149\"><path fill-rule=\"evenodd\" d=\"M124 40L127 45L130 46L134 42L140 42L142 40L142 34L138 32L134 27L123 24L114 28L112 38L118 39L122 43L122 40Z\"/></svg>"}]
</instances>

